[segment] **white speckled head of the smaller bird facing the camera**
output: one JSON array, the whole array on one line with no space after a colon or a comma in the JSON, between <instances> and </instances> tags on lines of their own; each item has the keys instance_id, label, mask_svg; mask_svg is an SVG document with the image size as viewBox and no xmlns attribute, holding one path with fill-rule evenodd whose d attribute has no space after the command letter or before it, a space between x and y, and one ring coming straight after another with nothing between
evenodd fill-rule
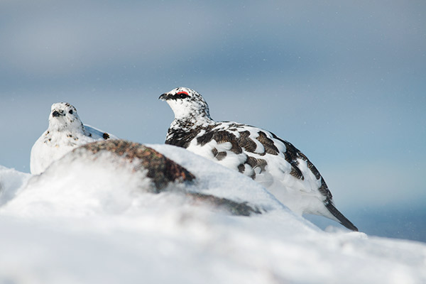
<instances>
[{"instance_id":1,"label":"white speckled head of the smaller bird facing the camera","mask_svg":"<svg viewBox=\"0 0 426 284\"><path fill-rule=\"evenodd\" d=\"M49 115L49 129L56 131L83 129L77 109L67 102L52 104Z\"/></svg>"}]
</instances>

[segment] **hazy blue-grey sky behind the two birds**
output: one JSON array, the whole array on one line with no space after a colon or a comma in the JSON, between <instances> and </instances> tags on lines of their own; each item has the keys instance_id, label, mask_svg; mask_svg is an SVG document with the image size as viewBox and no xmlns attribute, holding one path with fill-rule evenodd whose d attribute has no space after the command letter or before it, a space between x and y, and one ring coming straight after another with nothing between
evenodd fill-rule
<instances>
[{"instance_id":1,"label":"hazy blue-grey sky behind the two birds","mask_svg":"<svg viewBox=\"0 0 426 284\"><path fill-rule=\"evenodd\" d=\"M190 87L213 119L305 153L360 229L426 239L425 13L424 1L1 1L0 165L29 172L55 102L163 143L173 112L158 97Z\"/></svg>"}]
</instances>

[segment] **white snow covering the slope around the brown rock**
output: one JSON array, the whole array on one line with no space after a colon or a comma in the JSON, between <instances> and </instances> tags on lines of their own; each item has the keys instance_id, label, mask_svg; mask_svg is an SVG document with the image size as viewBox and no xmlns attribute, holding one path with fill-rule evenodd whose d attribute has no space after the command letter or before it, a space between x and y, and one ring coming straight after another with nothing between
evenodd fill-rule
<instances>
[{"instance_id":1,"label":"white snow covering the slope around the brown rock","mask_svg":"<svg viewBox=\"0 0 426 284\"><path fill-rule=\"evenodd\" d=\"M67 155L33 177L0 166L0 283L426 281L425 244L322 231L244 175L150 146L196 175L188 190L266 212L231 216L173 192L144 192L144 181L104 161Z\"/></svg>"}]
</instances>

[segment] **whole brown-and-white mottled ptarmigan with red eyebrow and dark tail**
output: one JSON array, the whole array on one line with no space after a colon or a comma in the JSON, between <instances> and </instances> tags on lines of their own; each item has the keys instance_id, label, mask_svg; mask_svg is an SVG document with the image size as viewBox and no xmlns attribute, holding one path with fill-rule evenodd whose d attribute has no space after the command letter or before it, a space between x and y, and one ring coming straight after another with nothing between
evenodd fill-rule
<instances>
[{"instance_id":1,"label":"whole brown-and-white mottled ptarmigan with red eyebrow and dark tail","mask_svg":"<svg viewBox=\"0 0 426 284\"><path fill-rule=\"evenodd\" d=\"M193 89L178 87L159 99L175 113L166 144L249 175L297 214L322 215L358 231L334 207L332 193L315 165L288 141L246 124L214 121L207 103Z\"/></svg>"}]
</instances>

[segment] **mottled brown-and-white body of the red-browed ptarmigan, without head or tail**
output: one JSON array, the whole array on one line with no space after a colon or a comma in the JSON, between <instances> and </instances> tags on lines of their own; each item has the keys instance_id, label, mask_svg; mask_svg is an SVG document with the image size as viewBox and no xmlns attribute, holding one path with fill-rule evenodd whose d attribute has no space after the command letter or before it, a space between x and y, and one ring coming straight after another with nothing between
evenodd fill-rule
<instances>
[{"instance_id":1,"label":"mottled brown-and-white body of the red-browed ptarmigan, without head or tail","mask_svg":"<svg viewBox=\"0 0 426 284\"><path fill-rule=\"evenodd\" d=\"M316 214L320 209L329 215L322 202L331 200L332 194L317 168L295 146L275 134L235 122L169 134L166 143L249 175L293 211ZM312 207L312 203L318 206Z\"/></svg>"}]
</instances>

